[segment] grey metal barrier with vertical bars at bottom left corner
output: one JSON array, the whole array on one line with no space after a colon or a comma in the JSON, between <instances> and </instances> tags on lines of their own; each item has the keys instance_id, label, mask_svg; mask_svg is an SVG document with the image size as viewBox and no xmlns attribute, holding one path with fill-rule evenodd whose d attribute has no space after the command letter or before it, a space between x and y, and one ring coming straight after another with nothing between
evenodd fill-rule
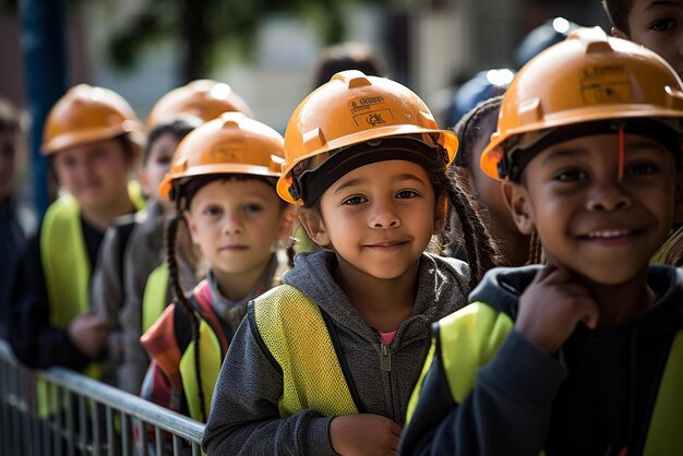
<instances>
[{"instance_id":1,"label":"grey metal barrier with vertical bars at bottom left corner","mask_svg":"<svg viewBox=\"0 0 683 456\"><path fill-rule=\"evenodd\" d=\"M38 418L37 379L64 397L62 412ZM69 369L26 369L0 339L0 456L199 456L203 432L197 421Z\"/></svg>"}]
</instances>

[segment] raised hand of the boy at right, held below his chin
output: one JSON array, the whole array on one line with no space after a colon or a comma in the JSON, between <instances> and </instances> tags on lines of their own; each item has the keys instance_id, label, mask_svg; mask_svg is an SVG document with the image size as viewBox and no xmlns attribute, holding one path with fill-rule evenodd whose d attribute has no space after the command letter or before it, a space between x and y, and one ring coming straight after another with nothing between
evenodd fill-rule
<instances>
[{"instance_id":1,"label":"raised hand of the boy at right, held below his chin","mask_svg":"<svg viewBox=\"0 0 683 456\"><path fill-rule=\"evenodd\" d=\"M519 297L515 328L549 355L560 349L578 322L594 329L598 304L588 289L556 265L544 266Z\"/></svg>"}]
</instances>

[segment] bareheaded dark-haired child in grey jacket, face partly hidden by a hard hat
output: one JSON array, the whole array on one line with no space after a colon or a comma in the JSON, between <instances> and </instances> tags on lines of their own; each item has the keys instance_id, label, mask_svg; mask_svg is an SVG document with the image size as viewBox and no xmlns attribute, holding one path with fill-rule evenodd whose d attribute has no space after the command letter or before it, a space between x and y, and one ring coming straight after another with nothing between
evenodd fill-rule
<instances>
[{"instance_id":1,"label":"bareheaded dark-haired child in grey jacket, face partly hidden by a hard hat","mask_svg":"<svg viewBox=\"0 0 683 456\"><path fill-rule=\"evenodd\" d=\"M140 182L147 195L146 211L122 217L107 230L100 248L100 262L93 275L91 297L95 313L110 331L103 370L116 385L139 394L149 358L140 344L142 335L142 296L147 276L163 262L163 228L168 212L158 188L170 167L178 143L201 119L178 117L156 125L148 135ZM171 207L172 209L172 207ZM183 262L185 265L188 262ZM196 284L187 264L189 280ZM164 290L166 291L166 290ZM166 292L164 297L166 298Z\"/></svg>"}]
</instances>

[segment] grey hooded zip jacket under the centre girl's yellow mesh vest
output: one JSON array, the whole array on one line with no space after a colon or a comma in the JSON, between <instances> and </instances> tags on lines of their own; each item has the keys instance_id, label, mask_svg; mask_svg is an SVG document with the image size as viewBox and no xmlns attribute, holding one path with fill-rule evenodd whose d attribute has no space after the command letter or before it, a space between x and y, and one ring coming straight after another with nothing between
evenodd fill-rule
<instances>
[{"instance_id":1,"label":"grey hooded zip jacket under the centre girl's yellow mesh vest","mask_svg":"<svg viewBox=\"0 0 683 456\"><path fill-rule=\"evenodd\" d=\"M335 267L332 252L299 254L283 283L301 290L329 317L334 326L329 329L336 333L342 351L337 356L348 365L354 383L349 386L356 388L360 411L403 424L430 323L466 303L469 267L458 260L422 254L412 314L388 346L388 365L380 334L334 281L331 272ZM334 455L328 432L333 417L310 409L279 417L283 375L271 363L269 353L263 352L255 331L252 302L218 376L202 442L205 451L216 455Z\"/></svg>"}]
</instances>

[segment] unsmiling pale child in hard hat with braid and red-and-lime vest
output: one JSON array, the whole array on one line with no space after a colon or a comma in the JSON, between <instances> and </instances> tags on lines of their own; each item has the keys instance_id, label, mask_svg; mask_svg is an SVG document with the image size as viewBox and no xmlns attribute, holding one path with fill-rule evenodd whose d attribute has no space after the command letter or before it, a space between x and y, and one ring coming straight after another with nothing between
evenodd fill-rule
<instances>
[{"instance_id":1,"label":"unsmiling pale child in hard hat with braid and red-and-lime vest","mask_svg":"<svg viewBox=\"0 0 683 456\"><path fill-rule=\"evenodd\" d=\"M275 192L283 155L279 133L238 112L205 123L178 146L160 187L177 209L167 226L176 304L141 338L152 357L142 397L206 421L220 363L247 302L278 283L287 267L277 250L291 230L289 204ZM206 279L189 297L176 260L182 217L209 264Z\"/></svg>"}]
</instances>

